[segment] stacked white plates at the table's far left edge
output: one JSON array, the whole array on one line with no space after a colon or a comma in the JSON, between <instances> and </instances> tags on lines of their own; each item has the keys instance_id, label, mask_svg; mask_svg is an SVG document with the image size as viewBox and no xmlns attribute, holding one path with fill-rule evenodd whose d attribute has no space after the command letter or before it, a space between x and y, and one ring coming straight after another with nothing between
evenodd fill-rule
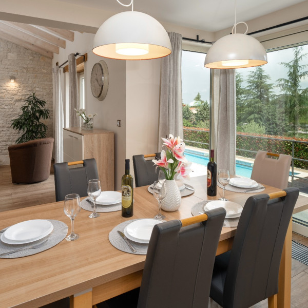
<instances>
[{"instance_id":1,"label":"stacked white plates at the table's far left edge","mask_svg":"<svg viewBox=\"0 0 308 308\"><path fill-rule=\"evenodd\" d=\"M27 220L10 226L0 239L6 244L26 244L44 238L52 230L53 224L48 220Z\"/></svg>"}]
</instances>

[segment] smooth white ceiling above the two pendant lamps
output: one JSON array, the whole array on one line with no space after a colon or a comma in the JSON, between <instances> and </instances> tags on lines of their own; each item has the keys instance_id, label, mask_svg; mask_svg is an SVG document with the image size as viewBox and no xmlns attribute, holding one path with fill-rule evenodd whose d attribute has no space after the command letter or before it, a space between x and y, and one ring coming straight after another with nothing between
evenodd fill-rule
<instances>
[{"instance_id":1,"label":"smooth white ceiling above the two pendant lamps","mask_svg":"<svg viewBox=\"0 0 308 308\"><path fill-rule=\"evenodd\" d=\"M117 0L59 1L113 13L131 10L121 6ZM134 0L134 11L149 14L160 22L216 32L233 26L235 1L237 22L240 22L252 20L305 0ZM130 0L122 0L122 3L129 4Z\"/></svg>"}]
</instances>

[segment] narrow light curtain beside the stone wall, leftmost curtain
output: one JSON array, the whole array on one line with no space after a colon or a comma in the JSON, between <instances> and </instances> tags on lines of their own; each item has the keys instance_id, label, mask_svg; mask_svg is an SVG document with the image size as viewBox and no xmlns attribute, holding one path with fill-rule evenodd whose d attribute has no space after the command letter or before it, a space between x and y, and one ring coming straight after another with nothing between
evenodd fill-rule
<instances>
[{"instance_id":1,"label":"narrow light curtain beside the stone wall, leftmost curtain","mask_svg":"<svg viewBox=\"0 0 308 308\"><path fill-rule=\"evenodd\" d=\"M54 162L63 162L63 127L64 127L64 115L63 115L63 102L60 83L60 69L59 66L55 66L52 69L53 73L53 97L54 97Z\"/></svg>"}]
</instances>

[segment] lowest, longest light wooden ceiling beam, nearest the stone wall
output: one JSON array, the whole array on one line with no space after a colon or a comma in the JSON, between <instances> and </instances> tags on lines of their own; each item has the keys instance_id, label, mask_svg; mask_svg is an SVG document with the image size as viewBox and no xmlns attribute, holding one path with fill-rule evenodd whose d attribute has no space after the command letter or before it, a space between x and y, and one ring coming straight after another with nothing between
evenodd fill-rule
<instances>
[{"instance_id":1,"label":"lowest, longest light wooden ceiling beam, nearest the stone wall","mask_svg":"<svg viewBox=\"0 0 308 308\"><path fill-rule=\"evenodd\" d=\"M12 28L2 22L0 22L0 30L2 32L5 32L11 36L14 36L20 41L24 41L27 43L30 43L33 46L37 46L38 48L41 48L42 50L46 50L49 52L55 52L59 53L59 47L52 45L46 41L41 40L40 38L36 38L32 35L29 35L25 32L19 31L15 28Z\"/></svg>"}]
</instances>

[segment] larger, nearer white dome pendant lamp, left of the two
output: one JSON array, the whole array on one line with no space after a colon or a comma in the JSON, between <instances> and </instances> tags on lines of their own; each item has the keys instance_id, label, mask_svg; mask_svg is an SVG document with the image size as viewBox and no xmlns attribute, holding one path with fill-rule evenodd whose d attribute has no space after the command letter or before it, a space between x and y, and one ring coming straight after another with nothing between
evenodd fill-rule
<instances>
[{"instance_id":1,"label":"larger, nearer white dome pendant lamp, left of the two","mask_svg":"<svg viewBox=\"0 0 308 308\"><path fill-rule=\"evenodd\" d=\"M119 0L118 3L123 5ZM118 60L149 60L171 53L167 31L153 17L133 11L106 20L94 36L93 53Z\"/></svg>"}]
</instances>

